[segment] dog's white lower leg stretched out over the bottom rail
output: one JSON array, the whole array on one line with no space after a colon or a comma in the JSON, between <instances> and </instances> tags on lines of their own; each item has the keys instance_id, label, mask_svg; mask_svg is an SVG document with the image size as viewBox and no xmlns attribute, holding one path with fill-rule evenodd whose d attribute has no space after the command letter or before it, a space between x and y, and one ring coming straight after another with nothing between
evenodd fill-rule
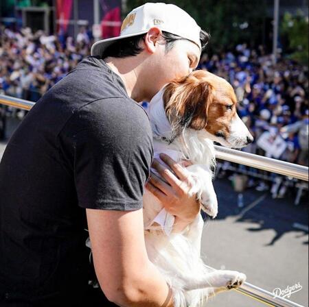
<instances>
[{"instance_id":1,"label":"dog's white lower leg stretched out over the bottom rail","mask_svg":"<svg viewBox=\"0 0 309 307\"><path fill-rule=\"evenodd\" d=\"M198 288L222 288L222 290L229 290L241 286L246 278L246 275L238 271L218 270L207 273L203 278L187 278L183 282L185 282L185 291Z\"/></svg>"}]
</instances>

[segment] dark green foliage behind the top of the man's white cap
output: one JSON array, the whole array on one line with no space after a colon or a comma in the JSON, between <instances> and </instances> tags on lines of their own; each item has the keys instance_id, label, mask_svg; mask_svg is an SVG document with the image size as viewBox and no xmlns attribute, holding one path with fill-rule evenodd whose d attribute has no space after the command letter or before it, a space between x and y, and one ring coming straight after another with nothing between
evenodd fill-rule
<instances>
[{"instance_id":1,"label":"dark green foliage behind the top of the man's white cap","mask_svg":"<svg viewBox=\"0 0 309 307\"><path fill-rule=\"evenodd\" d=\"M127 14L133 8L143 5L143 0L128 0ZM266 15L265 0L172 0L188 12L207 32L211 34L210 48L221 51L235 47L239 42L255 42L262 38L262 23Z\"/></svg>"}]
</instances>

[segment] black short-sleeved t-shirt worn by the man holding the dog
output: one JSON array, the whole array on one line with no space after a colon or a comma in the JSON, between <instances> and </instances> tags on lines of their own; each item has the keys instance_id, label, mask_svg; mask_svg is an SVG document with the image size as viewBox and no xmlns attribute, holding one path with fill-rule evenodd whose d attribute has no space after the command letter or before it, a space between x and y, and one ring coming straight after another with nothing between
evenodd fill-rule
<instances>
[{"instance_id":1,"label":"black short-sleeved t-shirt worn by the man holding the dog","mask_svg":"<svg viewBox=\"0 0 309 307\"><path fill-rule=\"evenodd\" d=\"M82 60L25 116L1 160L0 306L1 297L91 306L84 208L141 208L151 160L146 112L103 60Z\"/></svg>"}]
</instances>

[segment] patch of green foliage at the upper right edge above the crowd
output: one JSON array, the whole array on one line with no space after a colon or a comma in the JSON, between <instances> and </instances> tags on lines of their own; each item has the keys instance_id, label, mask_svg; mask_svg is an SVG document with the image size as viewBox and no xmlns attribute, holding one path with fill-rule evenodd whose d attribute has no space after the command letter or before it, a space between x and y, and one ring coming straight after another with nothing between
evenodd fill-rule
<instances>
[{"instance_id":1,"label":"patch of green foliage at the upper right edge above the crowd","mask_svg":"<svg viewBox=\"0 0 309 307\"><path fill-rule=\"evenodd\" d=\"M300 11L296 16L284 14L282 34L288 38L290 57L308 65L308 17L306 18Z\"/></svg>"}]
</instances>

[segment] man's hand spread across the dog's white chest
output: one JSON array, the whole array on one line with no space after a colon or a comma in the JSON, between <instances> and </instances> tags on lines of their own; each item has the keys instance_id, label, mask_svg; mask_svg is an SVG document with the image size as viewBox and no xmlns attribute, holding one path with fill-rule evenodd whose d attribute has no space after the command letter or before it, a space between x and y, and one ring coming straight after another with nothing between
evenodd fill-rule
<instances>
[{"instance_id":1,"label":"man's hand spread across the dog's white chest","mask_svg":"<svg viewBox=\"0 0 309 307\"><path fill-rule=\"evenodd\" d=\"M174 225L181 231L192 223L200 212L200 202L196 195L190 196L192 182L187 170L164 153L160 154L160 158L168 167L163 166L157 159L152 162L152 167L163 180L152 173L146 188L161 201L165 210L176 217Z\"/></svg>"}]
</instances>

